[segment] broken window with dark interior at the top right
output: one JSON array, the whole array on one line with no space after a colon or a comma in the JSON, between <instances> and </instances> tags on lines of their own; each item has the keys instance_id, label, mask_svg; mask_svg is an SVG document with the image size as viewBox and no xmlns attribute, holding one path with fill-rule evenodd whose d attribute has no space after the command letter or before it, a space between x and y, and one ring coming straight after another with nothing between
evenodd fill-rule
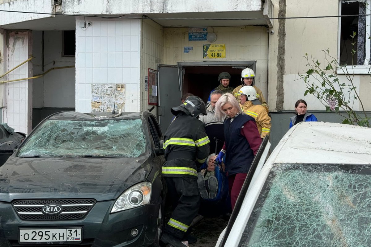
<instances>
[{"instance_id":1,"label":"broken window with dark interior at the top right","mask_svg":"<svg viewBox=\"0 0 371 247\"><path fill-rule=\"evenodd\" d=\"M370 16L366 16L371 13L370 2L370 0L341 1L340 65L370 64ZM352 38L354 33L355 36Z\"/></svg>"}]
</instances>

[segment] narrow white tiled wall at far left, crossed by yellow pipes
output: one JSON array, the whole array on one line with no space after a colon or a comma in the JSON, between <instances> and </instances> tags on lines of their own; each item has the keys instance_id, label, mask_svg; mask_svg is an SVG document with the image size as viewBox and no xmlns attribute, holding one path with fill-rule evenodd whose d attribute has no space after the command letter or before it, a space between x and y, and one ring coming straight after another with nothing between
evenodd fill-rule
<instances>
[{"instance_id":1,"label":"narrow white tiled wall at far left, crossed by yellow pipes","mask_svg":"<svg viewBox=\"0 0 371 247\"><path fill-rule=\"evenodd\" d=\"M32 54L30 32L8 33L6 71L27 60ZM6 76L6 80L32 76L32 64L27 62ZM8 82L5 84L5 107L3 122L15 131L29 133L32 129L32 80Z\"/></svg>"}]
</instances>

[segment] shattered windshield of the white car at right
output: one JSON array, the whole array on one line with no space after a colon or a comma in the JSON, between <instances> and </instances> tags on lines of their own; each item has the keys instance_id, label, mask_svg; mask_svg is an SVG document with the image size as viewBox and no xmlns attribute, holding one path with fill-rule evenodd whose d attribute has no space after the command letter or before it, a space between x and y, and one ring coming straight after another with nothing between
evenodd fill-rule
<instances>
[{"instance_id":1,"label":"shattered windshield of the white car at right","mask_svg":"<svg viewBox=\"0 0 371 247\"><path fill-rule=\"evenodd\" d=\"M371 166L273 165L239 246L371 246Z\"/></svg>"}]
</instances>

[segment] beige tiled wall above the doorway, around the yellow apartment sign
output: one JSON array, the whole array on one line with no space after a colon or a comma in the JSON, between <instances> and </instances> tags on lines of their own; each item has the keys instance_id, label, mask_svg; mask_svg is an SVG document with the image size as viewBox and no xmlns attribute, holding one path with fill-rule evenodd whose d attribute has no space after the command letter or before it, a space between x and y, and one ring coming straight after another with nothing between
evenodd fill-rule
<instances>
[{"instance_id":1,"label":"beige tiled wall above the doorway, around the yellow apartment sign","mask_svg":"<svg viewBox=\"0 0 371 247\"><path fill-rule=\"evenodd\" d=\"M164 64L193 61L256 60L255 83L267 98L268 33L266 27L209 27L217 35L211 44L225 44L226 58L204 59L203 44L208 41L188 41L188 28L165 28ZM184 47L193 50L184 53ZM269 103L269 102L268 102Z\"/></svg>"}]
</instances>

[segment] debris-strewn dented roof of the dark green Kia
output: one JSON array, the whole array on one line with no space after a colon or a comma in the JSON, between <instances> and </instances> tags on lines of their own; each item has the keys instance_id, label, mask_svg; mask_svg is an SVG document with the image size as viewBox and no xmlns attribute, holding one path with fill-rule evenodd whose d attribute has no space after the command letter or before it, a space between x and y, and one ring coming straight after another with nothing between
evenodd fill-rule
<instances>
[{"instance_id":1,"label":"debris-strewn dented roof of the dark green Kia","mask_svg":"<svg viewBox=\"0 0 371 247\"><path fill-rule=\"evenodd\" d=\"M112 114L112 112L91 112L91 113L81 113L73 111L57 112L56 114L50 115L47 119L50 120L98 120L100 119L138 119L141 118L142 112L122 112L120 116L117 114Z\"/></svg>"}]
</instances>

